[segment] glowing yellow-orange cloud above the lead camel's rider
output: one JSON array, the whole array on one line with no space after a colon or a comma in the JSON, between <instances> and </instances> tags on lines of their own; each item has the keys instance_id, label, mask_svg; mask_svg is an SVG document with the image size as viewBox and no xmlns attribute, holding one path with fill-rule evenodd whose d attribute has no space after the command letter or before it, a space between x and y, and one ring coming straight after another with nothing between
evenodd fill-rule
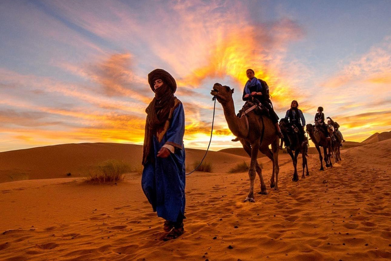
<instances>
[{"instance_id":1,"label":"glowing yellow-orange cloud above the lead camel's rider","mask_svg":"<svg viewBox=\"0 0 391 261\"><path fill-rule=\"evenodd\" d=\"M276 22L271 28L262 24L233 25L227 35L218 37L212 45L205 65L192 69L178 82L184 86L199 86L208 78L230 76L243 88L248 80L245 71L252 68L257 77L269 84L273 101L290 103L291 98L287 97L300 94L278 68L286 56L288 42L302 35L302 30L290 20Z\"/></svg>"}]
</instances>

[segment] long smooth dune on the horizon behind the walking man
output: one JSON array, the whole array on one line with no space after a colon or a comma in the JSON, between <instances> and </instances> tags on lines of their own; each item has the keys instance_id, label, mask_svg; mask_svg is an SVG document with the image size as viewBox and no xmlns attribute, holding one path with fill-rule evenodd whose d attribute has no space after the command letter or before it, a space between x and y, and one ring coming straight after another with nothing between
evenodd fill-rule
<instances>
[{"instance_id":1,"label":"long smooth dune on the horizon behind the walking man","mask_svg":"<svg viewBox=\"0 0 391 261\"><path fill-rule=\"evenodd\" d=\"M186 149L186 168L193 169L200 162L205 150ZM86 176L90 170L107 160L119 160L129 163L135 172L142 169L143 146L121 143L80 143L44 146L0 152L0 182ZM205 162L212 165L214 171L228 171L237 162L249 161L249 158L209 151ZM67 176L67 173L71 173Z\"/></svg>"}]
</instances>

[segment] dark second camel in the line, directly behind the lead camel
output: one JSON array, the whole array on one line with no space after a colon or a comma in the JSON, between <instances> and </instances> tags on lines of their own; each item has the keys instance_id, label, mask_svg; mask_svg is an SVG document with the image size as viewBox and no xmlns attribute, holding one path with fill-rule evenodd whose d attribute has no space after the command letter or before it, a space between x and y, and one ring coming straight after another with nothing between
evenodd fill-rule
<instances>
[{"instance_id":1,"label":"dark second camel in the line, directly behind the lead camel","mask_svg":"<svg viewBox=\"0 0 391 261\"><path fill-rule=\"evenodd\" d=\"M299 176L297 174L297 156L299 155L299 153L301 153L302 160L303 160L302 163L303 174L301 175L301 178L305 178L304 176L305 168L306 168L306 176L310 175L310 172L308 171L308 163L306 158L306 153L308 151L308 146L307 146L308 140L304 140L303 142L300 142L299 139L300 134L298 133L299 131L297 127L296 127L297 129L296 132L295 129L292 127L293 125L289 124L287 119L283 118L280 120L280 128L282 133L284 134L284 142L285 145L287 146L287 152L291 156L293 162L294 173L293 173L292 181L298 181ZM293 154L292 151L294 151L295 154Z\"/></svg>"}]
</instances>

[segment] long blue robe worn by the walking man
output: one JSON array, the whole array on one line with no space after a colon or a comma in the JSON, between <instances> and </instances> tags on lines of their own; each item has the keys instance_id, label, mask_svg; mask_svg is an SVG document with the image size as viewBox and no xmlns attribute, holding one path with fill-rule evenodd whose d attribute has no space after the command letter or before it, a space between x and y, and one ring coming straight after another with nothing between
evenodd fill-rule
<instances>
[{"instance_id":1,"label":"long blue robe worn by the walking man","mask_svg":"<svg viewBox=\"0 0 391 261\"><path fill-rule=\"evenodd\" d=\"M184 132L185 113L178 100L170 122L153 136L154 163L145 163L141 180L144 194L153 211L157 212L158 217L173 222L177 221L180 214L183 217L185 214ZM175 153L170 153L167 158L158 158L156 154L164 144L174 146Z\"/></svg>"}]
</instances>

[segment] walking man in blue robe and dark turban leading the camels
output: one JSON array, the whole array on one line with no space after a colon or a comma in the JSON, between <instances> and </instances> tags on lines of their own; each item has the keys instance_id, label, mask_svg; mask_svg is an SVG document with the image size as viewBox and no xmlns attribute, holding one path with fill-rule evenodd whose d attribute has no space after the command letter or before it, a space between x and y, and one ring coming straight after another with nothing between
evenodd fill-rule
<instances>
[{"instance_id":1,"label":"walking man in blue robe and dark turban leading the camels","mask_svg":"<svg viewBox=\"0 0 391 261\"><path fill-rule=\"evenodd\" d=\"M165 219L163 240L178 238L185 218L185 114L174 96L177 84L170 73L148 74L155 97L146 109L142 188L153 211Z\"/></svg>"}]
</instances>

